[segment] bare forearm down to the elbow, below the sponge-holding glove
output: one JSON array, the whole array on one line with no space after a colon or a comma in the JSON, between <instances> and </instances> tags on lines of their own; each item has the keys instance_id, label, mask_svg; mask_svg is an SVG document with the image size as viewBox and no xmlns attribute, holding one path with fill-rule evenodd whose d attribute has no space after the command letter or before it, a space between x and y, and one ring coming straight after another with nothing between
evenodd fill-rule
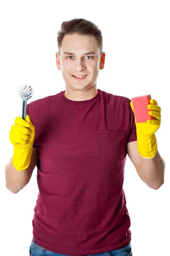
<instances>
[{"instance_id":1,"label":"bare forearm down to the elbow, below the sponge-holding glove","mask_svg":"<svg viewBox=\"0 0 170 256\"><path fill-rule=\"evenodd\" d=\"M159 189L164 183L165 163L157 151L154 158L145 159L142 157L141 177L144 183L152 189Z\"/></svg>"}]
</instances>

